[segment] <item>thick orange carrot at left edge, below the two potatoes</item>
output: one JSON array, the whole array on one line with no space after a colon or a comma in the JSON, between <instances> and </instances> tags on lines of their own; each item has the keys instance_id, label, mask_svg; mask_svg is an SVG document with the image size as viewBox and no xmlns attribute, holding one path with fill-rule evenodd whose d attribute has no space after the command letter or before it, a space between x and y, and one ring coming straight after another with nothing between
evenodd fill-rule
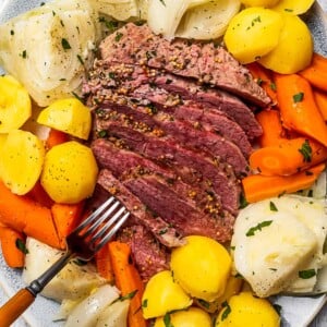
<instances>
[{"instance_id":1,"label":"thick orange carrot at left edge, below the two potatoes","mask_svg":"<svg viewBox=\"0 0 327 327\"><path fill-rule=\"evenodd\" d=\"M28 196L11 193L0 181L0 222L50 246L60 249L51 210Z\"/></svg>"}]
</instances>

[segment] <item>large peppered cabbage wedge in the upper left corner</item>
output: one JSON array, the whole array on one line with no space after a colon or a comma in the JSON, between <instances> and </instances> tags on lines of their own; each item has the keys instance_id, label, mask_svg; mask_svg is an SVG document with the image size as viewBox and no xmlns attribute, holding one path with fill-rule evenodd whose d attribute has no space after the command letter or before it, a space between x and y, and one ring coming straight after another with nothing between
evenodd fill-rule
<instances>
[{"instance_id":1,"label":"large peppered cabbage wedge in the upper left corner","mask_svg":"<svg viewBox=\"0 0 327 327\"><path fill-rule=\"evenodd\" d=\"M69 97L82 83L100 38L87 0L50 2L0 26L0 64L37 105Z\"/></svg>"}]
</instances>

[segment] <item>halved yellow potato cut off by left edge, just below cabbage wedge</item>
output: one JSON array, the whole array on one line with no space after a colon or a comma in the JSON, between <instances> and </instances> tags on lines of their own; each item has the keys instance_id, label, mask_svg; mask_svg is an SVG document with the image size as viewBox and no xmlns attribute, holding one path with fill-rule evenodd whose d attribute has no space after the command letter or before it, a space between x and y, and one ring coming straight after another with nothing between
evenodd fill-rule
<instances>
[{"instance_id":1,"label":"halved yellow potato cut off by left edge, just below cabbage wedge","mask_svg":"<svg viewBox=\"0 0 327 327\"><path fill-rule=\"evenodd\" d=\"M0 133L20 129L32 114L27 90L14 77L0 76Z\"/></svg>"}]
</instances>

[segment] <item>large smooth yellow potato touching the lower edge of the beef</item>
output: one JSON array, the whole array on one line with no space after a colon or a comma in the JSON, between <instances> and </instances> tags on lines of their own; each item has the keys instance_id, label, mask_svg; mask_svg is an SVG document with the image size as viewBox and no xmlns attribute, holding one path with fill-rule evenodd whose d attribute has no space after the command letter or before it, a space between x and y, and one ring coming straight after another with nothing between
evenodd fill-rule
<instances>
[{"instance_id":1,"label":"large smooth yellow potato touching the lower edge of the beef","mask_svg":"<svg viewBox=\"0 0 327 327\"><path fill-rule=\"evenodd\" d=\"M192 296L208 302L219 298L230 275L231 258L213 239L192 235L171 253L174 280Z\"/></svg>"}]
</instances>

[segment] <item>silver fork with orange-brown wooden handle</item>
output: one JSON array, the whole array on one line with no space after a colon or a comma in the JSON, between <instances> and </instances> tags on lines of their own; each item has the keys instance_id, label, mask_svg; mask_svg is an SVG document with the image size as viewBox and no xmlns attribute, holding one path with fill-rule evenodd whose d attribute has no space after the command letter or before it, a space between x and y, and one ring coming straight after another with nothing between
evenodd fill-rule
<instances>
[{"instance_id":1,"label":"silver fork with orange-brown wooden handle","mask_svg":"<svg viewBox=\"0 0 327 327\"><path fill-rule=\"evenodd\" d=\"M70 259L76 257L90 261L95 253L116 234L129 216L128 209L116 197L109 197L66 237L65 254L0 307L0 327L10 326Z\"/></svg>"}]
</instances>

